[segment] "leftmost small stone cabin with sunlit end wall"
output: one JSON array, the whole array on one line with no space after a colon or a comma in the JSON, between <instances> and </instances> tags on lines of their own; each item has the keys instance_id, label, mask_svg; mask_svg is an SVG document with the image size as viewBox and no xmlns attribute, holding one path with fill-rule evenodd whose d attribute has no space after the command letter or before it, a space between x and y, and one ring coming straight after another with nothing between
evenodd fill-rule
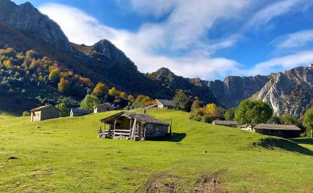
<instances>
[{"instance_id":1,"label":"leftmost small stone cabin with sunlit end wall","mask_svg":"<svg viewBox=\"0 0 313 193\"><path fill-rule=\"evenodd\" d=\"M46 119L60 117L59 109L55 108L53 105L40 106L30 110L30 112L31 112L31 122L43 121Z\"/></svg>"}]
</instances>

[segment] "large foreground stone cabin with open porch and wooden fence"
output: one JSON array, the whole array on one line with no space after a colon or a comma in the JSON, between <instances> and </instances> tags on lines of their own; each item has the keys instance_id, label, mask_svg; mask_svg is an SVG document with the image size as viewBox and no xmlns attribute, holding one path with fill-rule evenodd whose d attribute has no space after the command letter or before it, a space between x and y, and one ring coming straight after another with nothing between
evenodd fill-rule
<instances>
[{"instance_id":1,"label":"large foreground stone cabin with open porch and wooden fence","mask_svg":"<svg viewBox=\"0 0 313 193\"><path fill-rule=\"evenodd\" d=\"M169 124L142 113L122 111L101 119L104 130L99 136L114 139L145 140L165 136ZM108 126L108 128L106 128Z\"/></svg>"}]
</instances>

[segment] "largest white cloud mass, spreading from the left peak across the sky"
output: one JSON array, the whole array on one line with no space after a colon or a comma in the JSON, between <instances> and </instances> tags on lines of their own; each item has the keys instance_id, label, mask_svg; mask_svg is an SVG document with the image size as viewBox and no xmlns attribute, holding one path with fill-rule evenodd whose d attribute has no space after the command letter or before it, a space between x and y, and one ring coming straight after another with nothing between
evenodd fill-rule
<instances>
[{"instance_id":1,"label":"largest white cloud mass, spreading from the left peak across the sky","mask_svg":"<svg viewBox=\"0 0 313 193\"><path fill-rule=\"evenodd\" d=\"M60 4L45 4L39 10L56 21L71 42L93 45L101 39L110 40L135 62L141 72L168 67L177 75L203 79L220 78L236 72L237 62L210 58L210 55L218 49L232 46L238 36L207 41L201 39L215 20L232 17L247 5L246 1L210 1L210 4L207 3L209 1L199 1L199 4L178 2L178 7L167 21L144 24L136 33L102 25L81 10ZM227 12L228 9L233 11ZM161 11L155 14L161 14ZM185 50L186 54L182 57L155 54L154 51L159 49L168 53Z\"/></svg>"}]
</instances>

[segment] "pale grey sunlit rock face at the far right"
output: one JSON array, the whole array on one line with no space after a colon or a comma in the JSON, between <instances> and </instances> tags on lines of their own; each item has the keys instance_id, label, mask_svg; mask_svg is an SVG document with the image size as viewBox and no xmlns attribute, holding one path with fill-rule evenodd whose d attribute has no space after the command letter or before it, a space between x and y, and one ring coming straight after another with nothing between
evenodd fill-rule
<instances>
[{"instance_id":1,"label":"pale grey sunlit rock face at the far right","mask_svg":"<svg viewBox=\"0 0 313 193\"><path fill-rule=\"evenodd\" d=\"M251 98L270 104L274 113L299 116L313 104L313 65L273 73L260 92Z\"/></svg>"}]
</instances>

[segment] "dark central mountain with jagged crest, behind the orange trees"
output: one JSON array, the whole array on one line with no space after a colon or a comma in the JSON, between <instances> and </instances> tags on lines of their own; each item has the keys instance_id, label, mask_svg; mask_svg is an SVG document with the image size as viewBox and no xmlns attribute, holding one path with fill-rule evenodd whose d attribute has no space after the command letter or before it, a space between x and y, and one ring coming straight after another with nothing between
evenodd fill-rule
<instances>
[{"instance_id":1,"label":"dark central mountain with jagged crest, behind the orange trees","mask_svg":"<svg viewBox=\"0 0 313 193\"><path fill-rule=\"evenodd\" d=\"M151 80L160 82L164 87L175 92L178 89L188 91L192 96L198 96L201 100L207 103L216 103L220 106L222 104L213 95L210 88L201 79L189 79L182 76L175 75L167 68L161 68L153 73L146 73L145 76Z\"/></svg>"}]
</instances>

